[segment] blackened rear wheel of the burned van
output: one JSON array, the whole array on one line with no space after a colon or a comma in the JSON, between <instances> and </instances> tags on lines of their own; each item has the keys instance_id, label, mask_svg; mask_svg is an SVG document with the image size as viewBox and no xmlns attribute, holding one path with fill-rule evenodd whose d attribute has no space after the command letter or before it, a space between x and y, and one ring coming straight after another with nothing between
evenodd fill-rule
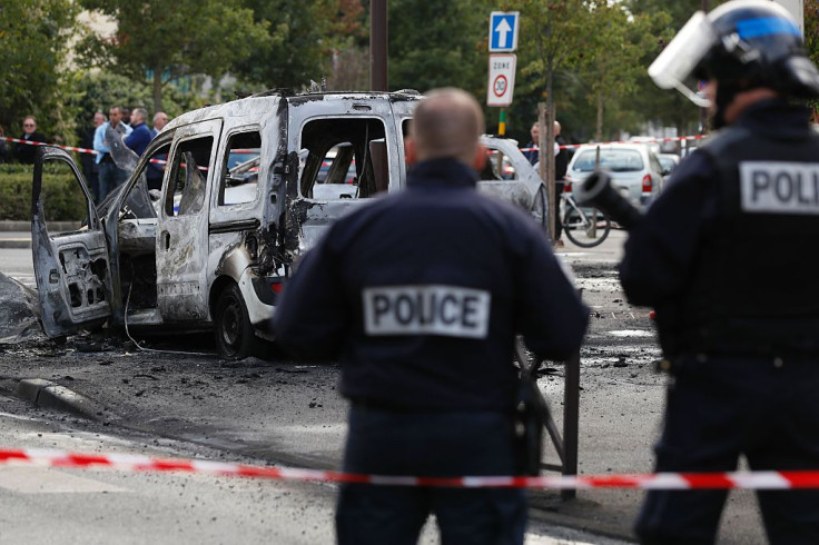
<instances>
[{"instance_id":1,"label":"blackened rear wheel of the burned van","mask_svg":"<svg viewBox=\"0 0 819 545\"><path fill-rule=\"evenodd\" d=\"M241 291L231 284L216 304L216 347L223 357L241 359L251 356L255 346L256 335Z\"/></svg>"}]
</instances>

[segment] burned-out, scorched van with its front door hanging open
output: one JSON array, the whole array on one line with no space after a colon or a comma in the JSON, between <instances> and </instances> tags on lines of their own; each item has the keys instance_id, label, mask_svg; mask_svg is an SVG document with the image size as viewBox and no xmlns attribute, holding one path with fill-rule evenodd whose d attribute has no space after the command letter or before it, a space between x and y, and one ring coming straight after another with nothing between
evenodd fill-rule
<instances>
[{"instance_id":1,"label":"burned-out, scorched van with its front door hanging open","mask_svg":"<svg viewBox=\"0 0 819 545\"><path fill-rule=\"evenodd\" d=\"M111 146L131 175L99 206L69 153L40 148L31 229L47 335L106 321L207 327L223 357L250 355L258 338L273 339L276 298L299 254L339 216L404 187L403 137L418 100L270 91L184 113L141 157ZM516 151L493 140L484 143ZM520 160L516 179L490 172L482 185L545 225L540 180ZM49 176L76 179L80 229L49 232Z\"/></svg>"}]
</instances>

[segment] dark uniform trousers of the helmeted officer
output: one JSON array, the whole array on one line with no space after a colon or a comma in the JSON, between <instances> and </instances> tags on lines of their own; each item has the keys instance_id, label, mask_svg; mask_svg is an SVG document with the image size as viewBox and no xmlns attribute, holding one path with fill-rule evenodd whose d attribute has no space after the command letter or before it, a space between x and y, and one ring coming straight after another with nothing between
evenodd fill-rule
<instances>
[{"instance_id":1,"label":"dark uniform trousers of the helmeted officer","mask_svg":"<svg viewBox=\"0 0 819 545\"><path fill-rule=\"evenodd\" d=\"M819 358L673 361L657 472L819 469ZM713 543L728 490L652 490L638 518L647 544ZM819 490L758 490L772 544L819 543Z\"/></svg>"}]
</instances>

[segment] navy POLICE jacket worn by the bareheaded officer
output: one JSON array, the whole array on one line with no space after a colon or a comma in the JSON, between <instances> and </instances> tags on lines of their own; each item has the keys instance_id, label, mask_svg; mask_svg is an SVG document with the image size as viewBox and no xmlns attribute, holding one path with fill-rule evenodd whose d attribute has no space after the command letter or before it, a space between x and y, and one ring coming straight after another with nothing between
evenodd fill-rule
<instances>
[{"instance_id":1,"label":"navy POLICE jacket worn by the bareheaded officer","mask_svg":"<svg viewBox=\"0 0 819 545\"><path fill-rule=\"evenodd\" d=\"M339 358L354 400L511 409L515 335L565 359L589 313L532 218L476 181L458 161L424 161L405 191L336 221L282 294L277 341Z\"/></svg>"}]
</instances>

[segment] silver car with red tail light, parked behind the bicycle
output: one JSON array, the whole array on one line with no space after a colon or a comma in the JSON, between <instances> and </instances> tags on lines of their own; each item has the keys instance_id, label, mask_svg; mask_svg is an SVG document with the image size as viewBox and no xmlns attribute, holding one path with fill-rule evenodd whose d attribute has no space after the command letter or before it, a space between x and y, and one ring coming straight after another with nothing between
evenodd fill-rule
<instances>
[{"instance_id":1,"label":"silver car with red tail light, parked behind the bicycle","mask_svg":"<svg viewBox=\"0 0 819 545\"><path fill-rule=\"evenodd\" d=\"M582 182L594 170L609 172L614 188L639 208L662 190L663 169L644 143L582 146L569 162L566 181Z\"/></svg>"}]
</instances>

